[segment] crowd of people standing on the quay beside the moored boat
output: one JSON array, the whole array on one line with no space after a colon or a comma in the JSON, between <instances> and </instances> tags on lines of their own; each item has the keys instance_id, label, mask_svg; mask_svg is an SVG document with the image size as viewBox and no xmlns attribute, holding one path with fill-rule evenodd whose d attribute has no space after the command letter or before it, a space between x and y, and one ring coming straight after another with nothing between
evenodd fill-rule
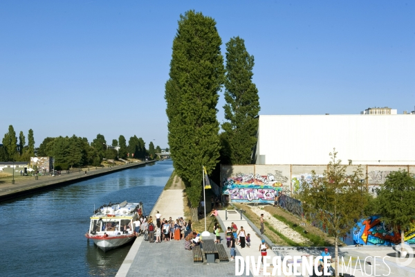
<instances>
[{"instance_id":1,"label":"crowd of people standing on the quay beside the moored boat","mask_svg":"<svg viewBox=\"0 0 415 277\"><path fill-rule=\"evenodd\" d=\"M183 217L179 217L176 220L172 220L172 217L169 217L169 220L166 220L166 218L162 219L162 215L158 211L154 217L156 217L156 222L154 222L151 215L148 218L144 216L138 217L133 222L136 236L146 234L150 243L160 243L173 239L183 240L192 231L192 221L185 222Z\"/></svg>"}]
</instances>

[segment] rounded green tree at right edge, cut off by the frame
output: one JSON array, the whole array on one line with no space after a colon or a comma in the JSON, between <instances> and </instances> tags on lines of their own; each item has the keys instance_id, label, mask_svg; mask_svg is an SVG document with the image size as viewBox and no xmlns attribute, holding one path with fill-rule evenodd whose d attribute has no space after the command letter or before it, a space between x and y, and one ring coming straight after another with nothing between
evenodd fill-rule
<instances>
[{"instance_id":1,"label":"rounded green tree at right edge, cut off by the frame","mask_svg":"<svg viewBox=\"0 0 415 277\"><path fill-rule=\"evenodd\" d=\"M400 230L401 245L404 232L415 224L415 179L405 170L389 173L385 184L380 185L376 198L380 220Z\"/></svg>"}]
</instances>

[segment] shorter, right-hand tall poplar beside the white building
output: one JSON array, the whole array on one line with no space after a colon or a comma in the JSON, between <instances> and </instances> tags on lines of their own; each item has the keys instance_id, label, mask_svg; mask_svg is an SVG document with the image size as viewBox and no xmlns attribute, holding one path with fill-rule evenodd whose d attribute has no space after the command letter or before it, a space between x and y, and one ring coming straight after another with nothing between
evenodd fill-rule
<instances>
[{"instance_id":1,"label":"shorter, right-hand tall poplar beside the white building","mask_svg":"<svg viewBox=\"0 0 415 277\"><path fill-rule=\"evenodd\" d=\"M257 143L259 96L252 82L254 56L246 51L240 37L232 37L226 44L225 119L221 153L232 164L250 163L252 148Z\"/></svg>"}]
</instances>

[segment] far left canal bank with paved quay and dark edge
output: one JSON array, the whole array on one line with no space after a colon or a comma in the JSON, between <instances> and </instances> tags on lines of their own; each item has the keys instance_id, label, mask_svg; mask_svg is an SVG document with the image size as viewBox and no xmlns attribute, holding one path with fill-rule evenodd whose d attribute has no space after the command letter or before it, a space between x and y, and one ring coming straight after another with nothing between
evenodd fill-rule
<instances>
[{"instance_id":1,"label":"far left canal bank with paved quay and dark edge","mask_svg":"<svg viewBox=\"0 0 415 277\"><path fill-rule=\"evenodd\" d=\"M111 173L119 172L121 170L138 168L145 166L149 163L155 163L153 161L141 161L138 163L127 163L122 166L113 166L111 168L100 168L91 171L79 171L64 173L56 176L40 176L36 180L35 177L25 177L25 179L19 179L15 184L7 184L0 181L0 202L29 195L31 193L37 193L42 190L48 190L50 188L57 188L59 186L66 186L74 184L79 181L85 181Z\"/></svg>"}]
</instances>

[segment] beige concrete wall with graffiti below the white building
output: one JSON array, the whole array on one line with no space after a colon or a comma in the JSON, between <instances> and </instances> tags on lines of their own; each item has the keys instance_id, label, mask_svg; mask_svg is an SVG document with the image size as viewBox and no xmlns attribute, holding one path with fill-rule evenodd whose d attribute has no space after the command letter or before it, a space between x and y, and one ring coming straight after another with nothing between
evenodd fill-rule
<instances>
[{"instance_id":1,"label":"beige concrete wall with graffiti below the white building","mask_svg":"<svg viewBox=\"0 0 415 277\"><path fill-rule=\"evenodd\" d=\"M415 175L415 166L361 166L362 185L369 193L385 183L391 171L407 170ZM358 166L347 166L352 174ZM231 202L273 203L278 192L295 193L304 181L311 181L312 170L322 176L327 165L245 165L221 166L222 194L229 195Z\"/></svg>"}]
</instances>

